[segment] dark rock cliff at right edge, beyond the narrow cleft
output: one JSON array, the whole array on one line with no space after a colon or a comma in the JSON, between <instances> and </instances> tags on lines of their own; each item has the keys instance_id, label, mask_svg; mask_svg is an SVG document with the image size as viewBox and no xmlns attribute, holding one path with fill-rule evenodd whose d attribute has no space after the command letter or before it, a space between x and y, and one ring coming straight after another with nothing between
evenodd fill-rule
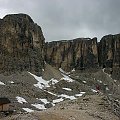
<instances>
[{"instance_id":1,"label":"dark rock cliff at right edge, beyond the narrow cleft","mask_svg":"<svg viewBox=\"0 0 120 120\"><path fill-rule=\"evenodd\" d=\"M120 78L120 34L104 36L99 45L99 64L110 68L115 78Z\"/></svg>"}]
</instances>

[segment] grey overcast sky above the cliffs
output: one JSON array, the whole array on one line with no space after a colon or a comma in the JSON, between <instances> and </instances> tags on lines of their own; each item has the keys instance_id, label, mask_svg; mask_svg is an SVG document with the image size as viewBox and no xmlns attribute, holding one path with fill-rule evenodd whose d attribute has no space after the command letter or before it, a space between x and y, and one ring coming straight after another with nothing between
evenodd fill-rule
<instances>
[{"instance_id":1,"label":"grey overcast sky above the cliffs","mask_svg":"<svg viewBox=\"0 0 120 120\"><path fill-rule=\"evenodd\" d=\"M120 33L120 0L0 0L0 18L29 14L46 41Z\"/></svg>"}]
</instances>

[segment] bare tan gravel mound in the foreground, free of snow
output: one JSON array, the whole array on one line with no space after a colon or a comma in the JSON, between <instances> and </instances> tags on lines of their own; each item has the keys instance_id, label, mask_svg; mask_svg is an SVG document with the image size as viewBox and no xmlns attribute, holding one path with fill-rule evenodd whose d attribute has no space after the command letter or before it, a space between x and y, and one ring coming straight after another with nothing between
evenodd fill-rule
<instances>
[{"instance_id":1,"label":"bare tan gravel mound in the foreground, free of snow","mask_svg":"<svg viewBox=\"0 0 120 120\"><path fill-rule=\"evenodd\" d=\"M111 112L103 95L86 95L73 101L64 101L50 109L16 114L1 120L119 120Z\"/></svg>"}]
</instances>

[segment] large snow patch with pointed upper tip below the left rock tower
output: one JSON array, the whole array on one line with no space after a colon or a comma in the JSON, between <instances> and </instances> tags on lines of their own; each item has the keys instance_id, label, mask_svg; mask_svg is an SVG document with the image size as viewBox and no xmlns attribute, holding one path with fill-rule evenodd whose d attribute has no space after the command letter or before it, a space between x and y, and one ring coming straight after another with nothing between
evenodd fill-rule
<instances>
[{"instance_id":1,"label":"large snow patch with pointed upper tip below the left rock tower","mask_svg":"<svg viewBox=\"0 0 120 120\"><path fill-rule=\"evenodd\" d=\"M38 87L40 89L44 89L46 87L50 87L49 84L48 84L49 81L46 81L42 77L38 77L38 76L36 76L36 75L34 75L32 73L30 73L30 74L38 81L37 84L34 84L35 87Z\"/></svg>"}]
</instances>

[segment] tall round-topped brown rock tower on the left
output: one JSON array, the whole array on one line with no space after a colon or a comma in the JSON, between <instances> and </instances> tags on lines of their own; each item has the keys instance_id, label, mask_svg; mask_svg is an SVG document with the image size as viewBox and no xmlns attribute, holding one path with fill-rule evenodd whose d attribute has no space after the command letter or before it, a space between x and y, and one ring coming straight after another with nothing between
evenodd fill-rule
<instances>
[{"instance_id":1,"label":"tall round-topped brown rock tower on the left","mask_svg":"<svg viewBox=\"0 0 120 120\"><path fill-rule=\"evenodd\" d=\"M41 75L44 36L26 14L0 19L0 72L30 71Z\"/></svg>"}]
</instances>

